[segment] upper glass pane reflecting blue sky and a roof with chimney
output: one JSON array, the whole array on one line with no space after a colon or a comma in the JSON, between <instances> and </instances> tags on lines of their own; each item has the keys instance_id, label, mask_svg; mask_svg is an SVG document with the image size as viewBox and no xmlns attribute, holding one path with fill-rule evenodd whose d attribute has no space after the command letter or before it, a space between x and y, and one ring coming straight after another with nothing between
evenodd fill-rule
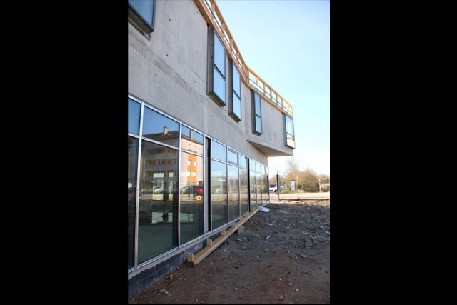
<instances>
[{"instance_id":1,"label":"upper glass pane reflecting blue sky and a roof with chimney","mask_svg":"<svg viewBox=\"0 0 457 305\"><path fill-rule=\"evenodd\" d=\"M143 136L178 147L179 124L152 109L144 107Z\"/></svg>"}]
</instances>

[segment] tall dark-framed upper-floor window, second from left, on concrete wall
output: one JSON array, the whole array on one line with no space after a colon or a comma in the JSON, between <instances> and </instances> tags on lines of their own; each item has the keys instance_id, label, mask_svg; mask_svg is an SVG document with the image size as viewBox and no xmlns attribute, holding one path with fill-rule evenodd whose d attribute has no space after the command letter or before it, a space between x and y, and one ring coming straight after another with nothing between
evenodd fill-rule
<instances>
[{"instance_id":1,"label":"tall dark-framed upper-floor window, second from left, on concrete wall","mask_svg":"<svg viewBox=\"0 0 457 305\"><path fill-rule=\"evenodd\" d=\"M219 106L226 105L226 49L214 28L208 35L208 94Z\"/></svg>"}]
</instances>

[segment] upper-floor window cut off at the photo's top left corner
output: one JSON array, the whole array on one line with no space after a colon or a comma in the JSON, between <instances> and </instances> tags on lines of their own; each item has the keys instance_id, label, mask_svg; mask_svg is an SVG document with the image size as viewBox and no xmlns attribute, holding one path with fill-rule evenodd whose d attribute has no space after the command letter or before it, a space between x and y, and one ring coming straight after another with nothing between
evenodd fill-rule
<instances>
[{"instance_id":1,"label":"upper-floor window cut off at the photo's top left corner","mask_svg":"<svg viewBox=\"0 0 457 305\"><path fill-rule=\"evenodd\" d=\"M146 36L154 31L156 0L129 0L129 21Z\"/></svg>"}]
</instances>

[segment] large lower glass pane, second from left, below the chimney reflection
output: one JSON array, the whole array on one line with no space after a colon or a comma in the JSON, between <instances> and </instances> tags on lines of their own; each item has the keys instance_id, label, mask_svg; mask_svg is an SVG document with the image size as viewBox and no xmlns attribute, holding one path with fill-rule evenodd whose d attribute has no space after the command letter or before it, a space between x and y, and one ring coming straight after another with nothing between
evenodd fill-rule
<instances>
[{"instance_id":1,"label":"large lower glass pane, second from left, below the chimney reflection","mask_svg":"<svg viewBox=\"0 0 457 305\"><path fill-rule=\"evenodd\" d=\"M141 144L139 264L178 246L178 151Z\"/></svg>"}]
</instances>

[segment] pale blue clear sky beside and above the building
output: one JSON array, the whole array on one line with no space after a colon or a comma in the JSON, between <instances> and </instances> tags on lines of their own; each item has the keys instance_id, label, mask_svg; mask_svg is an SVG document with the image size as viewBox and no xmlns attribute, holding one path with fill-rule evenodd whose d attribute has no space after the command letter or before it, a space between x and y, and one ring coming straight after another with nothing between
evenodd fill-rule
<instances>
[{"instance_id":1,"label":"pale blue clear sky beside and above the building","mask_svg":"<svg viewBox=\"0 0 457 305\"><path fill-rule=\"evenodd\" d=\"M293 156L269 157L270 176L285 174L291 159L330 176L330 1L216 4L245 64L293 108Z\"/></svg>"}]
</instances>

